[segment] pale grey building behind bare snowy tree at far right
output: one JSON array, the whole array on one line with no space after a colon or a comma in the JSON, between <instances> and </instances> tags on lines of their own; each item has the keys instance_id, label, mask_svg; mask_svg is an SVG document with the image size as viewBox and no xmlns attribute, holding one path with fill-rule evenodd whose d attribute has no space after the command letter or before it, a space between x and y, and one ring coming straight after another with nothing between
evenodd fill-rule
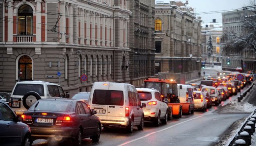
<instances>
[{"instance_id":1,"label":"pale grey building behind bare snowy tree at far right","mask_svg":"<svg viewBox=\"0 0 256 146\"><path fill-rule=\"evenodd\" d=\"M237 35L244 33L242 17L250 15L249 10L233 10L222 13L223 33L233 32ZM229 42L231 38L223 40L222 46ZM237 67L241 67L244 71L254 70L254 58L252 52L233 52L228 55L223 53L222 70L235 71ZM227 64L227 58L230 58L230 65Z\"/></svg>"}]
</instances>

